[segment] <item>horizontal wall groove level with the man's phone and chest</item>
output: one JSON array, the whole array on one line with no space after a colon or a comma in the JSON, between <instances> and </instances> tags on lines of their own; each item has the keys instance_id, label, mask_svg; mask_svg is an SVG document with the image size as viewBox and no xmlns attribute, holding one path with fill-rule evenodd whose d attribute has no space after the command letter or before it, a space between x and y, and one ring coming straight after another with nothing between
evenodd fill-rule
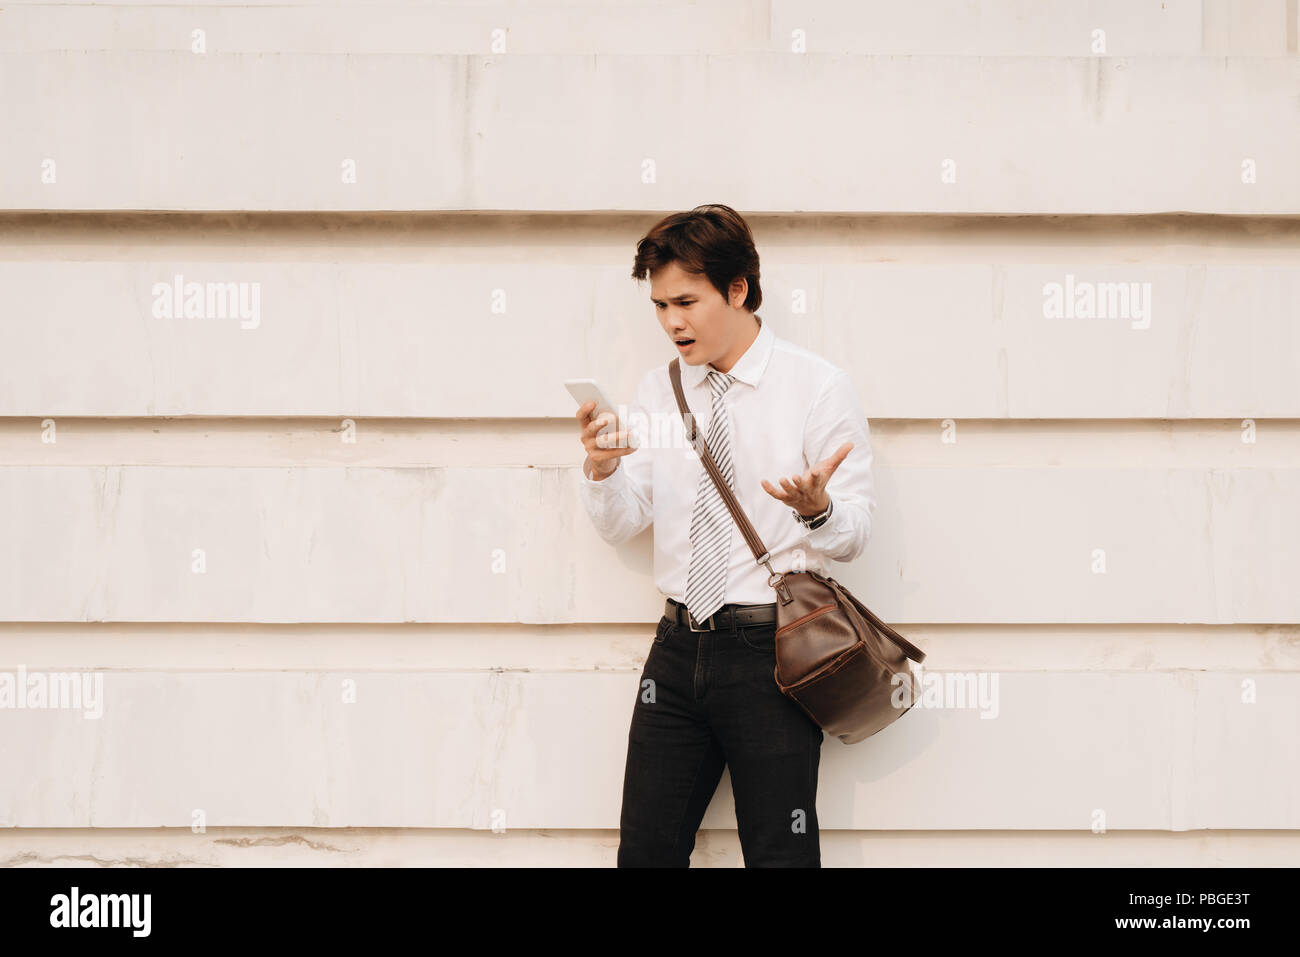
<instances>
[{"instance_id":1,"label":"horizontal wall groove level with the man's phone and chest","mask_svg":"<svg viewBox=\"0 0 1300 957\"><path fill-rule=\"evenodd\" d=\"M1300 419L875 419L876 467L1297 468ZM8 465L225 465L373 468L578 468L573 419L367 419L355 443L333 417L0 416Z\"/></svg>"}]
</instances>

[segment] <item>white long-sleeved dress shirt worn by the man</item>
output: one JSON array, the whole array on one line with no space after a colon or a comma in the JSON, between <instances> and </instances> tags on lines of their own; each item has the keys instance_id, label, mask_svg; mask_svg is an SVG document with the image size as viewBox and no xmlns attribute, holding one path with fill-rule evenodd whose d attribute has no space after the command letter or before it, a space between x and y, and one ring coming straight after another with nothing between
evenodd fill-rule
<instances>
[{"instance_id":1,"label":"white long-sleeved dress shirt worn by the man","mask_svg":"<svg viewBox=\"0 0 1300 957\"><path fill-rule=\"evenodd\" d=\"M731 410L736 498L771 551L774 571L829 573L827 559L852 562L871 537L876 503L867 417L844 369L779 338L770 322L758 321L758 338L729 369L736 381L723 397ZM681 363L681 387L702 436L708 434L712 415L707 381L712 368ZM611 545L654 523L655 585L680 602L690 568L690 515L699 476L707 473L686 439L668 360L645 374L627 412L625 426L633 429L637 450L618 459L619 467L603 481L593 480L584 469L578 494L597 533ZM831 518L810 531L760 481L766 478L780 489L781 478L802 475L845 442L853 442L853 450L826 489L833 503ZM767 568L754 560L745 536L734 521L731 524L723 601L776 601L776 590L767 584Z\"/></svg>"}]
</instances>

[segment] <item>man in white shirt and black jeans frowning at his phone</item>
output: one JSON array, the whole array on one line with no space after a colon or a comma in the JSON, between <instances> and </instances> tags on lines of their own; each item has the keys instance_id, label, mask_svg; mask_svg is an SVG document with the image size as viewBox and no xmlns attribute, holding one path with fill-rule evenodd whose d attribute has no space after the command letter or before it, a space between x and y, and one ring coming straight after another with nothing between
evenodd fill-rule
<instances>
[{"instance_id":1,"label":"man in white shirt and black jeans frowning at his phone","mask_svg":"<svg viewBox=\"0 0 1300 957\"><path fill-rule=\"evenodd\" d=\"M827 559L857 558L875 510L867 420L842 369L755 315L749 225L725 205L668 216L637 244L632 276L650 277L690 411L772 568L828 572ZM634 406L672 441L614 432L594 402L577 411L582 505L611 545L654 523L667 598L628 732L618 863L688 867L725 766L745 866L820 867L823 732L776 687L767 570L685 438L667 360Z\"/></svg>"}]
</instances>

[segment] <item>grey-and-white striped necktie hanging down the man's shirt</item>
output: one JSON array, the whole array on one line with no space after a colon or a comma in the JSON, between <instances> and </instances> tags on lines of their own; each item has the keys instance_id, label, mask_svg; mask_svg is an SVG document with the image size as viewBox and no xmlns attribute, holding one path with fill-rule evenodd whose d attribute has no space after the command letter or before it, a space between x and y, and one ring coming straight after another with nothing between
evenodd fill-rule
<instances>
[{"instance_id":1,"label":"grey-and-white striped necktie hanging down the man's shirt","mask_svg":"<svg viewBox=\"0 0 1300 957\"><path fill-rule=\"evenodd\" d=\"M736 489L736 469L731 458L731 425L723 395L736 381L725 372L708 371L708 385L714 391L712 419L708 423L708 451L727 484ZM696 511L690 516L690 570L686 572L686 610L702 624L723 606L727 592L727 564L731 555L732 532L736 521L722 493L708 477L701 459L699 486L696 490Z\"/></svg>"}]
</instances>

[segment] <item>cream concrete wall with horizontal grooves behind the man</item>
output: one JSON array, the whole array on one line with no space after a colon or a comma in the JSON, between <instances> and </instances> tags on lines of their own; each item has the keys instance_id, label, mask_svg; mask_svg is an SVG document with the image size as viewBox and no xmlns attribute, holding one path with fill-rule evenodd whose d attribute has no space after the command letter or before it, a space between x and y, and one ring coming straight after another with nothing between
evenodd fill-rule
<instances>
[{"instance_id":1,"label":"cream concrete wall with horizontal grooves behind the man","mask_svg":"<svg viewBox=\"0 0 1300 957\"><path fill-rule=\"evenodd\" d=\"M5 4L0 702L100 697L0 707L0 863L612 865L662 598L651 533L588 524L562 381L671 358L632 250L708 202L871 420L836 576L997 683L826 742L824 862L1294 863L1297 35L1296 0ZM725 776L703 827L737 866Z\"/></svg>"}]
</instances>

